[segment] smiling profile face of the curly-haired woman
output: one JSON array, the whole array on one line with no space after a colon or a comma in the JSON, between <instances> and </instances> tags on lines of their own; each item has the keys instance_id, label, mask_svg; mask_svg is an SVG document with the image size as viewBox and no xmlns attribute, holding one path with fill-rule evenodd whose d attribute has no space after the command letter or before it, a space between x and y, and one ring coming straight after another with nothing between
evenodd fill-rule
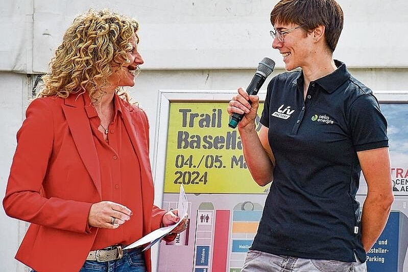
<instances>
[{"instance_id":1,"label":"smiling profile face of the curly-haired woman","mask_svg":"<svg viewBox=\"0 0 408 272\"><path fill-rule=\"evenodd\" d=\"M114 87L134 86L135 72L139 65L144 61L137 51L136 35L133 35L129 40L129 50L126 52L127 62L122 67L116 63L112 63L112 75L107 81Z\"/></svg>"}]
</instances>

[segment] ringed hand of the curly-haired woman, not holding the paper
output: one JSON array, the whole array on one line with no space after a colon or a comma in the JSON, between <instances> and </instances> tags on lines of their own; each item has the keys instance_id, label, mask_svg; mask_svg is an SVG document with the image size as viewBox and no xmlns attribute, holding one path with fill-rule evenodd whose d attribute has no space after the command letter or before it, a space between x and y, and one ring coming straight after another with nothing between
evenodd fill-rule
<instances>
[{"instance_id":1,"label":"ringed hand of the curly-haired woman, not holding the paper","mask_svg":"<svg viewBox=\"0 0 408 272\"><path fill-rule=\"evenodd\" d=\"M88 224L91 227L116 229L130 219L132 211L127 207L111 201L92 204Z\"/></svg>"}]
</instances>

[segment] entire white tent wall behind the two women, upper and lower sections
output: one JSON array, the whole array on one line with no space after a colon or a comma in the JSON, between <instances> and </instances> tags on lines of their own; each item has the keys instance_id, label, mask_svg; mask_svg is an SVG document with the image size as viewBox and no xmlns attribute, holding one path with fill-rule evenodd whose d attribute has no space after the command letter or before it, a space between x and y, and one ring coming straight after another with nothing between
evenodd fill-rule
<instances>
[{"instance_id":1,"label":"entire white tent wall behind the two women, upper and lower sections","mask_svg":"<svg viewBox=\"0 0 408 272\"><path fill-rule=\"evenodd\" d=\"M334 57L346 62L353 75L373 90L407 91L408 36L404 31L408 29L408 2L338 2L345 13L345 26ZM282 58L272 50L268 33L269 14L276 3L140 0L130 5L122 0L0 0L0 196L4 196L15 134L35 74L47 70L76 14L106 7L139 20L139 51L145 64L129 91L149 116L153 155L158 90L234 90L249 84L265 56L277 63L274 75L283 71ZM161 194L156 192L156 200ZM3 208L0 221L0 271L26 271L27 267L14 260L26 224L7 217Z\"/></svg>"}]
</instances>

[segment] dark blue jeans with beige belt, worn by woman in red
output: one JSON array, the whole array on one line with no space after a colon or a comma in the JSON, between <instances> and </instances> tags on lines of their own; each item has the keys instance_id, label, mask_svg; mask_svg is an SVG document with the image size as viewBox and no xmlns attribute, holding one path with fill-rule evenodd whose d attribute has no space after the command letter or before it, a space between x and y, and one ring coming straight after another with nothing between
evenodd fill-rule
<instances>
[{"instance_id":1,"label":"dark blue jeans with beige belt, worn by woman in red","mask_svg":"<svg viewBox=\"0 0 408 272\"><path fill-rule=\"evenodd\" d=\"M31 270L31 272L36 271ZM141 249L125 250L123 258L119 260L85 261L79 272L146 272L145 258Z\"/></svg>"}]
</instances>

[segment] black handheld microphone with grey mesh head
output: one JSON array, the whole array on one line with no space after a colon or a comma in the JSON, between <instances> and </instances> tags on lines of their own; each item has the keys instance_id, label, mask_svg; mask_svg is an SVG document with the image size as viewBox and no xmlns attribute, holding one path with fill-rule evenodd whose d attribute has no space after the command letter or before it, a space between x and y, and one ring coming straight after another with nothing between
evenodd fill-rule
<instances>
[{"instance_id":1,"label":"black handheld microphone with grey mesh head","mask_svg":"<svg viewBox=\"0 0 408 272\"><path fill-rule=\"evenodd\" d=\"M258 93L263 82L271 75L273 68L275 67L275 62L270 58L263 58L259 64L258 69L256 69L255 75L252 78L251 83L247 88L247 93L249 95L255 95ZM231 119L228 122L228 127L235 129L238 122L242 120L244 114L234 113L231 115Z\"/></svg>"}]
</instances>

